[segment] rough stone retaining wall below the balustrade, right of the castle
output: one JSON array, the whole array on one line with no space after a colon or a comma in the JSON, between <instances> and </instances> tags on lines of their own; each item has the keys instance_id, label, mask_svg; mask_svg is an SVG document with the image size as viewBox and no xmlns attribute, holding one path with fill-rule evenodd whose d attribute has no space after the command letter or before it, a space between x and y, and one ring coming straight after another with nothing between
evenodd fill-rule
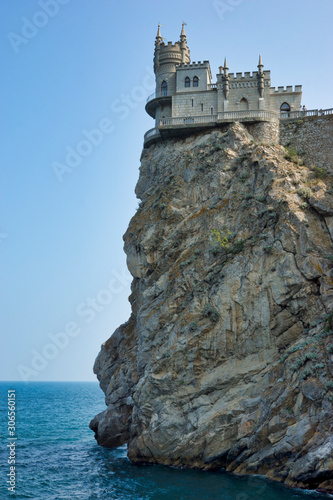
<instances>
[{"instance_id":1,"label":"rough stone retaining wall below the balustrade, right of the castle","mask_svg":"<svg viewBox=\"0 0 333 500\"><path fill-rule=\"evenodd\" d=\"M280 143L294 146L309 167L333 174L333 115L280 122Z\"/></svg>"}]
</instances>

